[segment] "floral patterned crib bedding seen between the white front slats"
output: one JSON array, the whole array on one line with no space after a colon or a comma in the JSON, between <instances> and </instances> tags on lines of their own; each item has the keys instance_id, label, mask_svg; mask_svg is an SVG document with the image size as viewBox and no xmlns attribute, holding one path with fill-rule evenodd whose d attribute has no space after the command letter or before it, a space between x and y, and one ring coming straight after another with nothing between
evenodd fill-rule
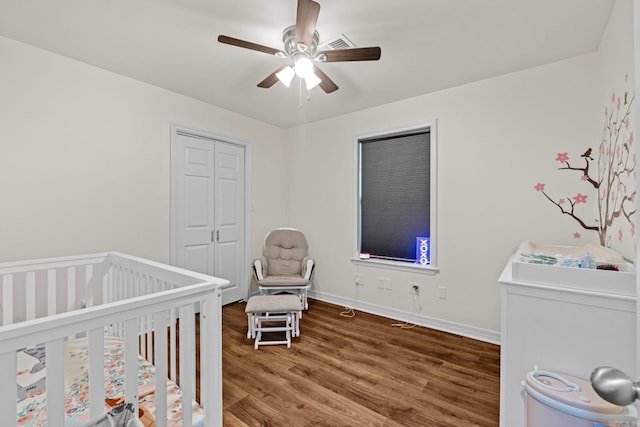
<instances>
[{"instance_id":1,"label":"floral patterned crib bedding seen between the white front slats","mask_svg":"<svg viewBox=\"0 0 640 427\"><path fill-rule=\"evenodd\" d=\"M67 426L81 426L89 421L89 349L83 339L65 343L65 418ZM18 425L46 426L46 366L44 347L23 350L17 353ZM155 368L142 357L138 357L139 404L155 415ZM105 396L124 396L124 342L122 339L105 336ZM182 425L182 393L172 381L167 382L168 425ZM192 403L193 423L203 422L203 410Z\"/></svg>"}]
</instances>

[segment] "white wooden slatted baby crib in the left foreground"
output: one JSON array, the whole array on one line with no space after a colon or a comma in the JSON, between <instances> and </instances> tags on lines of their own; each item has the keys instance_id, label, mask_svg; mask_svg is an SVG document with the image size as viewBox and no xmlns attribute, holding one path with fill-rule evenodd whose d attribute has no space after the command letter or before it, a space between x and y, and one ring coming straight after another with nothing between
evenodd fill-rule
<instances>
[{"instance_id":1,"label":"white wooden slatted baby crib in the left foreground","mask_svg":"<svg viewBox=\"0 0 640 427\"><path fill-rule=\"evenodd\" d=\"M0 425L44 422L27 423L31 414L18 421L16 402L21 389L9 380L17 378L22 352L37 346L44 348L46 374L41 381L45 387L28 395L43 399L38 405L44 407L46 425L69 425L69 409L75 413L77 408L69 408L65 392L69 393L72 381L69 371L75 374L79 368L69 368L65 359L71 354L69 347L80 345L88 351L83 361L88 365L83 367L88 386L78 400L86 405L82 419L104 415L105 398L113 397L108 395L116 387L113 384L123 387L121 397L138 410L140 366L145 363L157 374L146 384L153 394L156 426L221 426L221 292L228 284L115 252L0 264ZM202 362L200 398L195 403L197 326ZM105 362L105 354L112 353L106 343L114 340L123 349L123 378L109 378L113 372L105 371L105 364L111 363ZM147 377L145 373L145 381ZM178 409L184 410L169 408L167 403L167 387L178 389L176 384L181 393L178 402L187 402ZM174 419L180 412L181 418Z\"/></svg>"}]
</instances>

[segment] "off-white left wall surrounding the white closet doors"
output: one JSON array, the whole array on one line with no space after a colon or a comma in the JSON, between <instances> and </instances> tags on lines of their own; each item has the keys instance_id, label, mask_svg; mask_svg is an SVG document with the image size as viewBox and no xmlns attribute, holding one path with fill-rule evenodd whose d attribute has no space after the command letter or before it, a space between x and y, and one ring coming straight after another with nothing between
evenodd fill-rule
<instances>
[{"instance_id":1,"label":"off-white left wall surrounding the white closet doors","mask_svg":"<svg viewBox=\"0 0 640 427\"><path fill-rule=\"evenodd\" d=\"M168 262L170 122L249 142L253 234L284 216L281 129L2 37L0 58L0 260Z\"/></svg>"}]
</instances>

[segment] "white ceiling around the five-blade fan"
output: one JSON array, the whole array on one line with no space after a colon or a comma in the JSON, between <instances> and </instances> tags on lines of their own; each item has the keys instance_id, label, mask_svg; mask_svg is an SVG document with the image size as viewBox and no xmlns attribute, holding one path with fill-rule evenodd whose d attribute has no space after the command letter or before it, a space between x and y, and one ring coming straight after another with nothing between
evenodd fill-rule
<instances>
[{"instance_id":1,"label":"white ceiling around the five-blade fan","mask_svg":"<svg viewBox=\"0 0 640 427\"><path fill-rule=\"evenodd\" d=\"M295 80L256 87L284 59L217 42L281 49L296 0L0 0L0 35L289 128L594 51L615 2L318 1L321 43L382 57L321 65L340 89L302 108Z\"/></svg>"}]
</instances>

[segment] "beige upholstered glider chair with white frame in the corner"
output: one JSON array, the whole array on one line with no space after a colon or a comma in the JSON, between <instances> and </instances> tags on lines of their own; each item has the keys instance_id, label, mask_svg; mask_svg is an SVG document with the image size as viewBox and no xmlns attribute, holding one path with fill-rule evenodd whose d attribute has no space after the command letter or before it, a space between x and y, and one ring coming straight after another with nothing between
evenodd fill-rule
<instances>
[{"instance_id":1,"label":"beige upholstered glider chair with white frame in the corner","mask_svg":"<svg viewBox=\"0 0 640 427\"><path fill-rule=\"evenodd\" d=\"M264 240L263 256L253 261L253 273L261 295L295 293L302 306L309 308L307 291L311 287L315 262L309 258L304 234L293 228L276 228Z\"/></svg>"}]
</instances>

